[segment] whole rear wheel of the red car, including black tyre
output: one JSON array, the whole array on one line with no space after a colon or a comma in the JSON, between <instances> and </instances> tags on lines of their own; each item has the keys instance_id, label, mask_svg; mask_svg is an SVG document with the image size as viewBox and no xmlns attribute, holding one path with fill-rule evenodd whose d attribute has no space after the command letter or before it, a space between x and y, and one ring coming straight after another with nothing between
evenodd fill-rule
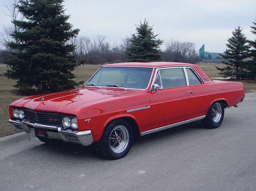
<instances>
[{"instance_id":1,"label":"whole rear wheel of the red car, including black tyre","mask_svg":"<svg viewBox=\"0 0 256 191\"><path fill-rule=\"evenodd\" d=\"M224 105L221 102L215 102L211 105L205 119L203 119L203 122L205 123L207 128L215 129L221 125L223 118Z\"/></svg>"}]
</instances>

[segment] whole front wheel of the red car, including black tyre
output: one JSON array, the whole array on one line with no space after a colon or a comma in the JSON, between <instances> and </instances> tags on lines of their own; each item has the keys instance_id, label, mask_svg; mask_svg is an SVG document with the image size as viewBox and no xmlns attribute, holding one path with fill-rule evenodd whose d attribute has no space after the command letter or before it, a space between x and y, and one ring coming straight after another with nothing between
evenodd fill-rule
<instances>
[{"instance_id":1,"label":"whole front wheel of the red car, including black tyre","mask_svg":"<svg viewBox=\"0 0 256 191\"><path fill-rule=\"evenodd\" d=\"M118 119L106 126L98 143L100 155L106 159L121 159L129 152L133 141L132 126L126 120Z\"/></svg>"}]
</instances>

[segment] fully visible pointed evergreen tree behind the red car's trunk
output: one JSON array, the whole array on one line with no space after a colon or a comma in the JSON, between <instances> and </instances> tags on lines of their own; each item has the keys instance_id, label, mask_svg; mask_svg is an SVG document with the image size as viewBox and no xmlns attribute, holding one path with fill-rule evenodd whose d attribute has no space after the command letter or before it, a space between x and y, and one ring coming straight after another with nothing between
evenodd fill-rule
<instances>
[{"instance_id":1,"label":"fully visible pointed evergreen tree behind the red car's trunk","mask_svg":"<svg viewBox=\"0 0 256 191\"><path fill-rule=\"evenodd\" d=\"M246 78L247 66L244 59L248 57L250 46L242 31L240 26L237 29L235 28L232 32L233 36L228 39L228 43L226 44L228 48L224 51L225 54L220 54L225 59L222 63L226 66L224 68L216 66L216 68L223 77Z\"/></svg>"}]
</instances>

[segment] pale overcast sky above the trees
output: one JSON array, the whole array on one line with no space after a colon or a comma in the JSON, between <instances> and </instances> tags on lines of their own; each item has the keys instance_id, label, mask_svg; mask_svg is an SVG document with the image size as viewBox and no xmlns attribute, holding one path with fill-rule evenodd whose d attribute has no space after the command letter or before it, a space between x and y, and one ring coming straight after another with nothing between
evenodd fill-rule
<instances>
[{"instance_id":1,"label":"pale overcast sky above the trees","mask_svg":"<svg viewBox=\"0 0 256 191\"><path fill-rule=\"evenodd\" d=\"M0 0L0 26L11 25L6 15L10 0ZM106 37L111 44L135 33L135 24L149 21L165 42L190 41L198 50L223 52L232 31L241 26L249 39L256 19L256 0L66 0L69 22L79 36ZM162 46L165 49L165 46Z\"/></svg>"}]
</instances>

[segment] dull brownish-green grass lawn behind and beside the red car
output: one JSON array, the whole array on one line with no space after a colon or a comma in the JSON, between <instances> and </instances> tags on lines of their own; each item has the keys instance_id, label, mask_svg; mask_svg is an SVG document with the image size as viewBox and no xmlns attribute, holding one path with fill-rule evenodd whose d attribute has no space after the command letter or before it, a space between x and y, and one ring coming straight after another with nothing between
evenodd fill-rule
<instances>
[{"instance_id":1,"label":"dull brownish-green grass lawn behind and beside the red car","mask_svg":"<svg viewBox=\"0 0 256 191\"><path fill-rule=\"evenodd\" d=\"M210 77L220 77L215 66L223 66L223 64L211 64L211 63L199 63L198 64ZM78 68L78 78L75 81L87 81L88 78L100 67L100 65L84 65ZM0 65L0 137L11 135L16 133L12 129L12 126L7 122L9 119L8 106L12 101L22 98L23 96L14 95L12 85L15 85L15 81L7 79L3 73L6 72L6 65ZM77 71L74 71L77 74ZM256 92L256 83L249 81L244 82L246 93Z\"/></svg>"}]
</instances>

